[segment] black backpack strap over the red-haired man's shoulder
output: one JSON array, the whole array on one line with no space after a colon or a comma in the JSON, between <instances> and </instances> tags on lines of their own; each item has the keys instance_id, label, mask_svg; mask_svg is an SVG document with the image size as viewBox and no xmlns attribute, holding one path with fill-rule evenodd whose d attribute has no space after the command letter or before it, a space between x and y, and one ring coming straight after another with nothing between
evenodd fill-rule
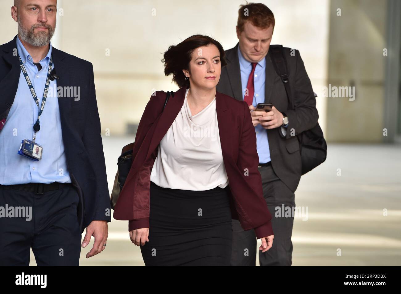
<instances>
[{"instance_id":1,"label":"black backpack strap over the red-haired man's shoulder","mask_svg":"<svg viewBox=\"0 0 401 294\"><path fill-rule=\"evenodd\" d=\"M287 60L286 56L284 56L283 45L270 45L269 53L271 61L273 62L273 67L281 78L284 88L286 89L288 109L294 109L296 106L292 103L291 89L290 84L288 83Z\"/></svg>"}]
</instances>

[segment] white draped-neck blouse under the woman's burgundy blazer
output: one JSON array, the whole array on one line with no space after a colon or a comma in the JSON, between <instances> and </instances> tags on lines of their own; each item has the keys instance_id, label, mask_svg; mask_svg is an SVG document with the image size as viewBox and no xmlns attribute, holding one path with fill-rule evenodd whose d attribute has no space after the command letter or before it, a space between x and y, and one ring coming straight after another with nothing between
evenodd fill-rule
<instances>
[{"instance_id":1,"label":"white draped-neck blouse under the woman's burgundy blazer","mask_svg":"<svg viewBox=\"0 0 401 294\"><path fill-rule=\"evenodd\" d=\"M150 180L171 189L225 188L229 181L221 153L216 97L192 116L186 100L188 90L180 112L160 141Z\"/></svg>"}]
</instances>

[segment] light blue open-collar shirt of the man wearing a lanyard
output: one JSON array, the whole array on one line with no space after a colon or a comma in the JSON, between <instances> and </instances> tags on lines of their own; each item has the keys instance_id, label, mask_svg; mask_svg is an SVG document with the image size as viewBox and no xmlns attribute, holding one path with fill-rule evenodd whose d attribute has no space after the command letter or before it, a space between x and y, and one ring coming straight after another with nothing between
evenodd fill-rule
<instances>
[{"instance_id":1,"label":"light blue open-collar shirt of the man wearing a lanyard","mask_svg":"<svg viewBox=\"0 0 401 294\"><path fill-rule=\"evenodd\" d=\"M33 64L32 57L18 37L17 50L35 89L39 105L41 105L52 46L50 44L47 56L40 61L42 66L40 71ZM54 64L54 60L53 66L57 66ZM36 133L35 142L43 147L42 159L34 161L21 156L17 153L21 141L23 139L32 140L33 125L38 119L39 109L33 100L22 71L20 72L14 103L11 106L6 124L0 132L0 184L71 183L64 153L56 90L56 80L51 81L45 108L40 119L41 129Z\"/></svg>"}]
</instances>

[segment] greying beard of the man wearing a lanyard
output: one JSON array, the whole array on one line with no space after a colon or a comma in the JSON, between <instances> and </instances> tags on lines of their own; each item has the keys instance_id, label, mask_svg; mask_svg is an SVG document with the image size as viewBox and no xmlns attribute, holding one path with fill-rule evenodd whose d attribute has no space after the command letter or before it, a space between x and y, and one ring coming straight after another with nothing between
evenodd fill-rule
<instances>
[{"instance_id":1,"label":"greying beard of the man wearing a lanyard","mask_svg":"<svg viewBox=\"0 0 401 294\"><path fill-rule=\"evenodd\" d=\"M46 31L39 31L35 34L35 28L47 28ZM18 15L18 34L21 38L21 41L24 41L35 47L43 47L49 44L50 39L53 37L56 26L52 28L49 24L39 23L34 24L33 26L28 28L24 28L22 26L20 16Z\"/></svg>"}]
</instances>

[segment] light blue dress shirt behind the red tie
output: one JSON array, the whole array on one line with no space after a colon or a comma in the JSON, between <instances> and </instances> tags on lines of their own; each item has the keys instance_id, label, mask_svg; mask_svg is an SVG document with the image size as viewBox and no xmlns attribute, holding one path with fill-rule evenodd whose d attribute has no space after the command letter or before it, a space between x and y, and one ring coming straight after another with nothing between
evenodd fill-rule
<instances>
[{"instance_id":1,"label":"light blue dress shirt behind the red tie","mask_svg":"<svg viewBox=\"0 0 401 294\"><path fill-rule=\"evenodd\" d=\"M238 56L239 56L239 67L241 69L241 86L242 86L242 99L245 98L245 89L247 88L249 74L252 71L252 64L246 60L239 50L238 46ZM263 58L259 61L255 68L255 76L253 77L253 86L255 92L253 93L252 105L256 107L258 103L265 103L265 78L266 78L266 59ZM269 162L270 159L270 149L269 140L267 140L267 131L260 124L255 126L256 132L256 149L259 156L259 163Z\"/></svg>"}]
</instances>

